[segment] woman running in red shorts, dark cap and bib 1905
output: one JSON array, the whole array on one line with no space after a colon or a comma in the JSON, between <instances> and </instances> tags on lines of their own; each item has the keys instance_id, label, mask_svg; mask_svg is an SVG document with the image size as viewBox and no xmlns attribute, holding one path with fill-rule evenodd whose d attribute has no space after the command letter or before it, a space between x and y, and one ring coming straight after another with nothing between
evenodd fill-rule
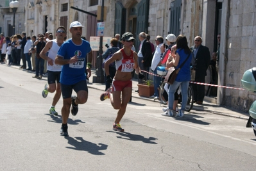
<instances>
[{"instance_id":1,"label":"woman running in red shorts, dark cap and bib 1905","mask_svg":"<svg viewBox=\"0 0 256 171\"><path fill-rule=\"evenodd\" d=\"M113 108L118 110L113 124L113 130L123 132L124 129L119 122L123 118L126 106L132 97L132 71L135 69L135 72L139 74L139 78L144 77L144 75L141 74L141 70L139 69L137 53L132 51L133 41L135 40L132 33L124 33L121 40L124 45L123 49L117 51L105 63L107 81L108 83L112 83L112 88L108 88L104 94L101 94L100 99L101 101L110 99ZM116 62L116 72L114 79L112 79L107 66L114 61Z\"/></svg>"}]
</instances>

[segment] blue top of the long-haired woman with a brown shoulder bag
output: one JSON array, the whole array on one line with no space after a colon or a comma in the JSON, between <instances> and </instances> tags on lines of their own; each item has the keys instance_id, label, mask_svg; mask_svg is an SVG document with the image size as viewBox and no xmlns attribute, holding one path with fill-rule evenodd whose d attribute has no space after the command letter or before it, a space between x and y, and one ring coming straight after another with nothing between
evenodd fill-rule
<instances>
[{"instance_id":1,"label":"blue top of the long-haired woman with a brown shoulder bag","mask_svg":"<svg viewBox=\"0 0 256 171\"><path fill-rule=\"evenodd\" d=\"M178 62L178 66L175 69L178 69L180 65L182 65L183 61L187 59L189 54L185 54L184 49L177 49L176 53L180 55L180 61ZM183 67L178 72L178 76L176 77L175 81L183 82L183 81L190 81L191 74L190 74L190 63L192 60L192 53L190 53L189 59L184 63Z\"/></svg>"}]
</instances>

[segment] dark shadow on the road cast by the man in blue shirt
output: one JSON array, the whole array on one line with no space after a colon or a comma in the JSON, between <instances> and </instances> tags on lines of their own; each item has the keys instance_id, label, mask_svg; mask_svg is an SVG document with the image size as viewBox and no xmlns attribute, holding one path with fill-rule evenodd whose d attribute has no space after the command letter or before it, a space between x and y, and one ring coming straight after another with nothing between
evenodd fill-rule
<instances>
[{"instance_id":1,"label":"dark shadow on the road cast by the man in blue shirt","mask_svg":"<svg viewBox=\"0 0 256 171\"><path fill-rule=\"evenodd\" d=\"M74 139L76 138L76 139ZM108 145L103 144L103 143L91 143L83 140L81 137L70 137L70 136L65 136L65 139L67 139L67 143L74 147L66 147L67 149L73 149L76 151L87 151L90 154L94 155L105 155L103 150L107 150Z\"/></svg>"}]
</instances>

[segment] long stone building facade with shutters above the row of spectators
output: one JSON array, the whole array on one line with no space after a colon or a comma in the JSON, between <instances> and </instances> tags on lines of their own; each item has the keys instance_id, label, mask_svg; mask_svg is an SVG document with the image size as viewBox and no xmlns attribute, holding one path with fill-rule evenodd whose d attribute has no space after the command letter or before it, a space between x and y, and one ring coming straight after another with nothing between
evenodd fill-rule
<instances>
[{"instance_id":1,"label":"long stone building facade with shutters above the row of spectators","mask_svg":"<svg viewBox=\"0 0 256 171\"><path fill-rule=\"evenodd\" d=\"M83 35L96 36L97 18L71 8L97 14L103 0L19 0L16 13L16 33L26 31L37 35L55 32L59 25L79 20L85 28ZM8 35L13 13L8 8L10 0L0 2L1 32ZM7 4L7 5L6 5ZM256 53L256 2L250 0L105 0L107 16L104 20L106 37L130 31L135 35L144 31L151 36L166 37L169 33L183 34L193 45L194 37L200 35L203 45L210 53L217 51L217 35L221 33L218 85L242 88L244 71L255 66ZM99 17L99 16L98 16ZM98 18L99 19L99 18ZM67 37L69 38L69 34ZM138 44L139 42L135 42ZM96 58L96 55L94 56ZM96 60L94 59L94 64ZM246 90L218 87L217 104L248 111L255 94Z\"/></svg>"}]
</instances>

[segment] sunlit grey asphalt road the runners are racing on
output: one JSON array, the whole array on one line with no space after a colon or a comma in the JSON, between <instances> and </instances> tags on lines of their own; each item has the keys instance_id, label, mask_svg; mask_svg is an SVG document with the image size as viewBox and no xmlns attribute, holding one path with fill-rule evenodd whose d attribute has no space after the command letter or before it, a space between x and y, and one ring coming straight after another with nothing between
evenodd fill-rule
<instances>
[{"instance_id":1,"label":"sunlit grey asphalt road the runners are racing on","mask_svg":"<svg viewBox=\"0 0 256 171\"><path fill-rule=\"evenodd\" d=\"M256 138L246 120L207 111L162 117L160 104L133 98L112 131L116 110L100 90L69 117L49 115L53 94L33 74L0 65L0 170L255 170ZM56 105L60 113L62 99Z\"/></svg>"}]
</instances>

